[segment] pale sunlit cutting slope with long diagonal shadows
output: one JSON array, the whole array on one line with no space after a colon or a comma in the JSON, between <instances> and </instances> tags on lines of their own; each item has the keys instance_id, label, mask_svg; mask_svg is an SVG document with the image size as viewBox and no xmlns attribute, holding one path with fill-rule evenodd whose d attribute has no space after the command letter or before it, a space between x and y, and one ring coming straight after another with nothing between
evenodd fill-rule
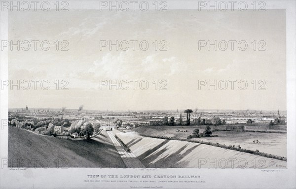
<instances>
[{"instance_id":1,"label":"pale sunlit cutting slope with long diagonal shadows","mask_svg":"<svg viewBox=\"0 0 296 189\"><path fill-rule=\"evenodd\" d=\"M140 136L114 131L146 167L171 168L285 168L283 160L206 144Z\"/></svg>"}]
</instances>

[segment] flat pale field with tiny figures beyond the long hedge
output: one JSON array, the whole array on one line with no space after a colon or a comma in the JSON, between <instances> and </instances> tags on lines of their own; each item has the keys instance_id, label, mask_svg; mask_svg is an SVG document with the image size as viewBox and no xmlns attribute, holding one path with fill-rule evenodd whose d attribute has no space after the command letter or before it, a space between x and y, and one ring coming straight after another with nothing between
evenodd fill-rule
<instances>
[{"instance_id":1,"label":"flat pale field with tiny figures beyond the long hedge","mask_svg":"<svg viewBox=\"0 0 296 189\"><path fill-rule=\"evenodd\" d=\"M185 139L188 135L192 134L195 126L140 126L133 131L139 134L152 135L152 136L168 136ZM212 129L214 126L212 126ZM187 130L188 132L176 132L176 129ZM204 129L199 129L203 132ZM238 131L216 131L213 134L218 137L203 137L190 139L203 140L219 144L240 145L243 149L259 150L260 152L287 157L287 134L286 133L260 133L260 132L238 132ZM253 141L255 140L255 144ZM260 143L256 143L259 140Z\"/></svg>"}]
</instances>

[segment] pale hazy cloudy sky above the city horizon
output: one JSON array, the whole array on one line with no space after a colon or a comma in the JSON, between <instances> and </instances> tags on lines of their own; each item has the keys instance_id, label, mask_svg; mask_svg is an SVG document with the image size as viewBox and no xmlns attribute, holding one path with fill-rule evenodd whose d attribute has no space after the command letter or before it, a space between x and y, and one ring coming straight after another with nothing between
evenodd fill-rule
<instances>
[{"instance_id":1,"label":"pale hazy cloudy sky above the city horizon","mask_svg":"<svg viewBox=\"0 0 296 189\"><path fill-rule=\"evenodd\" d=\"M9 51L9 80L16 83L36 79L50 83L48 90L42 90L40 83L34 90L33 82L29 90L9 90L9 108L83 105L90 110L286 110L285 10L72 9L68 12L13 11L8 16L9 40L51 43L48 51L40 49L40 43L35 51L33 42L28 51ZM128 50L115 47L109 50L109 46L100 49L100 42L115 43L116 40L118 43L128 41ZM131 40L138 41L135 50ZM214 47L208 50L207 46L199 49L199 41L214 43L215 40L226 41L228 48L225 51L219 48L215 51ZM233 51L230 40L237 41ZM248 43L244 51L237 45L243 40ZM59 41L58 51L55 41ZM62 41L68 42L68 51L61 51L66 44ZM148 42L148 50L139 47L141 41ZM160 51L163 45L166 50ZM261 45L265 51L258 50ZM59 80L58 90L56 80ZM67 82L61 83L62 80ZM110 90L108 84L102 86L103 80L112 83L118 80L119 89L113 86ZM130 80L138 80L135 90ZM139 86L144 80L149 84L147 90L144 90L145 82L142 89ZM207 85L199 86L201 80L207 83L217 80L217 85L225 80L228 87L215 90L212 86L208 90ZM233 90L229 80L237 81ZM238 88L241 80L248 84L246 90ZM121 88L120 81L123 81ZM122 89L126 87L125 81L129 83L127 90ZM61 90L65 84L68 90ZM259 90L263 84L265 90Z\"/></svg>"}]
</instances>

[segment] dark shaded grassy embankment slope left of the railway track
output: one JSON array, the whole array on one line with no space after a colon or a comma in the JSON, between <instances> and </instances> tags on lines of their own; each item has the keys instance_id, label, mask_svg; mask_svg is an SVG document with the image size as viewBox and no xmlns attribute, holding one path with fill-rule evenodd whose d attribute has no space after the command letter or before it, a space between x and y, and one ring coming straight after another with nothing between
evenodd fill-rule
<instances>
[{"instance_id":1,"label":"dark shaded grassy embankment slope left of the railway track","mask_svg":"<svg viewBox=\"0 0 296 189\"><path fill-rule=\"evenodd\" d=\"M72 141L11 126L8 161L9 167L125 167L106 131L91 140Z\"/></svg>"}]
</instances>

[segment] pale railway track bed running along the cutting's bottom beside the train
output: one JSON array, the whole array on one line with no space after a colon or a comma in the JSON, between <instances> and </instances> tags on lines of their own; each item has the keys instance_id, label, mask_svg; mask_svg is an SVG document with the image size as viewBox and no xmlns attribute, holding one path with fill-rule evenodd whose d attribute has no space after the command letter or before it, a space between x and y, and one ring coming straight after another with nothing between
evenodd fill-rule
<instances>
[{"instance_id":1,"label":"pale railway track bed running along the cutting's bottom beside the train","mask_svg":"<svg viewBox=\"0 0 296 189\"><path fill-rule=\"evenodd\" d=\"M121 144L115 138L113 131L107 131L107 133L127 168L145 168L145 165L136 157L136 155L134 155L132 152L127 153L123 149Z\"/></svg>"}]
</instances>

